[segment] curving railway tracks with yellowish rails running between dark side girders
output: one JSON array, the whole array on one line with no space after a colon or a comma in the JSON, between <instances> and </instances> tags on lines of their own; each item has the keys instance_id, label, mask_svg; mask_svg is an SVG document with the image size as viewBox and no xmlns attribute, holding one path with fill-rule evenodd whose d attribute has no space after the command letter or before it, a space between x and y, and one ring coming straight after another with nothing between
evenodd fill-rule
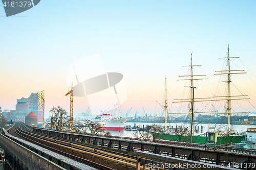
<instances>
[{"instance_id":1,"label":"curving railway tracks with yellowish rails running between dark side girders","mask_svg":"<svg viewBox=\"0 0 256 170\"><path fill-rule=\"evenodd\" d=\"M26 129L26 130L24 130ZM28 140L32 143L40 145L41 147L52 150L61 155L65 155L74 160L77 160L82 163L86 163L90 166L96 167L97 169L113 169L111 167L102 165L100 163L96 163L96 160L103 160L101 162L105 162L104 164L112 165L116 164L115 169L134 169L136 168L136 157L132 155L127 155L115 151L109 151L100 149L97 147L91 147L88 145L82 145L75 142L67 142L65 140L59 140L52 137L46 137L43 135L38 135L29 132L29 130L24 127L18 125L16 128L12 128L9 130L10 134L16 133L17 135L23 137L25 140ZM43 144L44 143L44 144ZM50 146L49 146L50 145ZM71 153L68 153L71 151ZM78 154L77 154L78 153ZM84 159L84 156L89 156L89 159L94 157L94 161ZM141 166L143 169L143 166Z\"/></svg>"}]
</instances>

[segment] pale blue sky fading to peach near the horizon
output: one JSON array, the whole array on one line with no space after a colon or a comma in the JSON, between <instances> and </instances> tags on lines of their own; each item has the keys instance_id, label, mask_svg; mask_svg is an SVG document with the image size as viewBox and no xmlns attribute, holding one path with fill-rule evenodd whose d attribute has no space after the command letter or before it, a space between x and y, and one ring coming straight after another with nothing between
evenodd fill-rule
<instances>
[{"instance_id":1,"label":"pale blue sky fading to peach near the horizon","mask_svg":"<svg viewBox=\"0 0 256 170\"><path fill-rule=\"evenodd\" d=\"M130 116L159 115L167 98L170 112L182 111L173 102L188 91L184 82L193 52L195 74L208 80L195 83L196 97L216 94L227 44L232 76L251 104L238 110L256 112L256 2L255 1L60 1L44 0L32 9L6 17L0 7L0 106L14 110L16 100L45 90L45 117L61 106L69 112L67 67L100 54L106 72L120 72L127 100L120 108ZM255 102L254 102L255 101ZM243 106L242 106L243 104ZM203 105L203 104L202 104ZM209 104L210 105L210 104ZM198 107L203 107L198 105ZM253 107L254 106L254 107ZM87 97L74 98L74 116L89 107ZM197 106L196 106L197 107Z\"/></svg>"}]
</instances>

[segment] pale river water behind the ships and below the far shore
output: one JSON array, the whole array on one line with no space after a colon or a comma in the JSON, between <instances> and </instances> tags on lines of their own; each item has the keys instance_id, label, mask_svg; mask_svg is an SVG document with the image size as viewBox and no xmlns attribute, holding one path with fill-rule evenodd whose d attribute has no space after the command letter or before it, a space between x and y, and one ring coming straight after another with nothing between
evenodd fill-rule
<instances>
[{"instance_id":1,"label":"pale river water behind the ships and below the far shore","mask_svg":"<svg viewBox=\"0 0 256 170\"><path fill-rule=\"evenodd\" d=\"M134 126L134 124L136 124L136 126L143 126L146 127L146 125L152 125L153 123L132 123L132 122L127 122L125 123L126 125L132 125ZM162 123L155 123L158 124L160 126L164 126L164 124ZM184 124L184 123L169 123L167 124L167 126L173 126L173 128L177 128L178 126L182 126L182 127L188 127L188 129L190 129L190 124ZM199 126L199 132L201 131L201 126L203 126L203 133L208 132L209 131L209 127L216 127L215 131L225 131L227 129L227 124L197 124L195 123L194 126L196 125L196 127ZM236 132L244 132L247 131L247 128L256 128L256 125L230 125L230 128ZM113 136L121 136L121 137L134 137L134 135L132 135L132 133L134 134L136 131L120 131L120 133L118 131L111 131L108 130Z\"/></svg>"}]
</instances>

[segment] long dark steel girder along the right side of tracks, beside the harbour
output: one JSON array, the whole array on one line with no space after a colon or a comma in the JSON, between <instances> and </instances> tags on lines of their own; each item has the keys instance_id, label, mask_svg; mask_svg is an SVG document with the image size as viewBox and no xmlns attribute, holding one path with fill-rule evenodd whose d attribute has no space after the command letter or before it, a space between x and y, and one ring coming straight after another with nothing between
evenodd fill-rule
<instances>
[{"instance_id":1,"label":"long dark steel girder along the right side of tracks, beside the harbour","mask_svg":"<svg viewBox=\"0 0 256 170\"><path fill-rule=\"evenodd\" d=\"M190 145L187 143L181 143L180 145L178 142L91 136L82 133L53 131L41 128L33 128L33 133L56 139L63 139L70 142L87 143L97 147L108 147L116 149L117 151L122 150L132 153L134 151L144 151L217 165L228 163L256 163L256 150L253 149L218 147L218 150L206 150L205 145L202 144Z\"/></svg>"}]
</instances>

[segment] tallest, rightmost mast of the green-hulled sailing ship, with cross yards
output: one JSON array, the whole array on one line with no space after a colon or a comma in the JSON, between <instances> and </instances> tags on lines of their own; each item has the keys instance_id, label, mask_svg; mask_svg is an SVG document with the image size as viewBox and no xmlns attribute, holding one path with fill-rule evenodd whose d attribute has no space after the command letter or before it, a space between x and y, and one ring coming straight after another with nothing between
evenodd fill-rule
<instances>
[{"instance_id":1,"label":"tallest, rightmost mast of the green-hulled sailing ship, with cross yards","mask_svg":"<svg viewBox=\"0 0 256 170\"><path fill-rule=\"evenodd\" d=\"M213 96L212 98L221 98L221 99L215 99L213 101L227 101L227 111L225 113L218 113L218 114L227 114L227 133L228 135L230 135L230 114L231 113L250 113L250 112L230 112L231 111L231 100L248 100L248 98L246 98L247 95L231 95L230 92L230 83L231 83L231 75L232 74L246 74L246 72L243 72L244 70L231 70L230 69L230 59L233 58L239 58L239 57L230 57L229 56L229 44L227 44L227 57L224 58L219 58L219 59L227 59L227 66L228 66L228 70L220 70L219 74L215 74L215 75L227 75L228 79L227 79L227 86L228 86L228 96ZM239 72L233 72L233 71L239 71ZM218 72L218 71L216 71ZM232 97L232 98L231 98ZM244 97L244 98L237 98L237 97ZM209 113L209 114L216 114L216 113Z\"/></svg>"}]
</instances>

